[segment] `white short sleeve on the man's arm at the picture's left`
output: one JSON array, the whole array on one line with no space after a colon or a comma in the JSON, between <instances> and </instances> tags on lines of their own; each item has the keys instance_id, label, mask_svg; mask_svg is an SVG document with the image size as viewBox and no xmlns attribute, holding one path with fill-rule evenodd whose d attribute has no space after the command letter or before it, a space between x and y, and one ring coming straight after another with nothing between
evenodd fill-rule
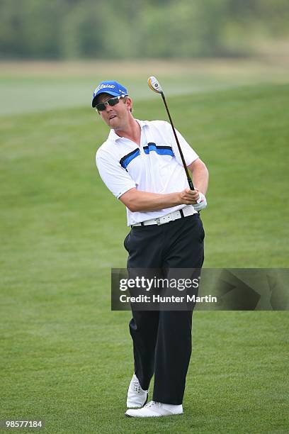
<instances>
[{"instance_id":1,"label":"white short sleeve on the man's arm at the picture's left","mask_svg":"<svg viewBox=\"0 0 289 434\"><path fill-rule=\"evenodd\" d=\"M135 188L135 182L110 152L96 152L96 166L104 184L117 199L125 191Z\"/></svg>"}]
</instances>

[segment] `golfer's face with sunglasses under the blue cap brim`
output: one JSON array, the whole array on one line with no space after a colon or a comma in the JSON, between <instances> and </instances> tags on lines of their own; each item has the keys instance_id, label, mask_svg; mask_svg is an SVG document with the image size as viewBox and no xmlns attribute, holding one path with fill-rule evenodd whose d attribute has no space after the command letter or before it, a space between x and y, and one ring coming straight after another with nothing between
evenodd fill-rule
<instances>
[{"instance_id":1,"label":"golfer's face with sunglasses under the blue cap brim","mask_svg":"<svg viewBox=\"0 0 289 434\"><path fill-rule=\"evenodd\" d=\"M98 96L97 103L106 102L111 98L113 98L112 95L101 94ZM110 128L113 128L113 130L123 130L128 123L131 106L131 99L126 97L125 99L120 99L118 104L115 104L115 106L109 106L106 104L106 109L98 111L98 113Z\"/></svg>"}]
</instances>

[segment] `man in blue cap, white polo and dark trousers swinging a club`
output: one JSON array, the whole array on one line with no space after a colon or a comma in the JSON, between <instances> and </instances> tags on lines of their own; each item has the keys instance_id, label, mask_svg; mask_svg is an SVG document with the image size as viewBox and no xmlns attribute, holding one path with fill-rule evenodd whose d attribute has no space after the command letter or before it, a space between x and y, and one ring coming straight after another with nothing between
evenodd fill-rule
<instances>
[{"instance_id":1,"label":"man in blue cap, white polo and dark trousers swinging a club","mask_svg":"<svg viewBox=\"0 0 289 434\"><path fill-rule=\"evenodd\" d=\"M96 165L108 189L127 208L131 226L125 238L128 268L202 267L205 234L198 211L207 205L205 164L177 132L196 188L191 191L170 124L135 119L132 99L118 82L101 82L92 106L111 128L96 152ZM183 112L186 116L186 104ZM183 413L192 310L132 311L135 373L128 389L126 416ZM145 405L153 374L153 401Z\"/></svg>"}]
</instances>

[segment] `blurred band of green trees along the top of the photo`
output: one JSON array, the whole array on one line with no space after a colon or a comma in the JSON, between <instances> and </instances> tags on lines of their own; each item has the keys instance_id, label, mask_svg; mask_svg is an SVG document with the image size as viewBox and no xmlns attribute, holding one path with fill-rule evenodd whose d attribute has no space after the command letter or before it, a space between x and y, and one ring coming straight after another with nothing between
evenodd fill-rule
<instances>
[{"instance_id":1,"label":"blurred band of green trees along the top of the photo","mask_svg":"<svg viewBox=\"0 0 289 434\"><path fill-rule=\"evenodd\" d=\"M288 22L288 0L0 0L0 57L250 55Z\"/></svg>"}]
</instances>

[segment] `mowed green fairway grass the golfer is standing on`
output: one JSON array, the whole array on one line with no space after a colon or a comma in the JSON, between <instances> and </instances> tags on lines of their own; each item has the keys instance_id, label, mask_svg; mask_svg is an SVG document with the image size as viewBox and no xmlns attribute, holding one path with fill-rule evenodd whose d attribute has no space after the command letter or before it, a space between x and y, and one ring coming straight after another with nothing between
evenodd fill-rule
<instances>
[{"instance_id":1,"label":"mowed green fairway grass the golfer is standing on","mask_svg":"<svg viewBox=\"0 0 289 434\"><path fill-rule=\"evenodd\" d=\"M168 99L210 169L205 267L288 267L288 98L289 85L263 84ZM162 100L137 101L135 117L166 118ZM196 312L184 415L124 417L130 313L110 310L110 272L125 267L128 228L94 162L107 133L89 106L1 117L0 420L288 432L286 311Z\"/></svg>"}]
</instances>

